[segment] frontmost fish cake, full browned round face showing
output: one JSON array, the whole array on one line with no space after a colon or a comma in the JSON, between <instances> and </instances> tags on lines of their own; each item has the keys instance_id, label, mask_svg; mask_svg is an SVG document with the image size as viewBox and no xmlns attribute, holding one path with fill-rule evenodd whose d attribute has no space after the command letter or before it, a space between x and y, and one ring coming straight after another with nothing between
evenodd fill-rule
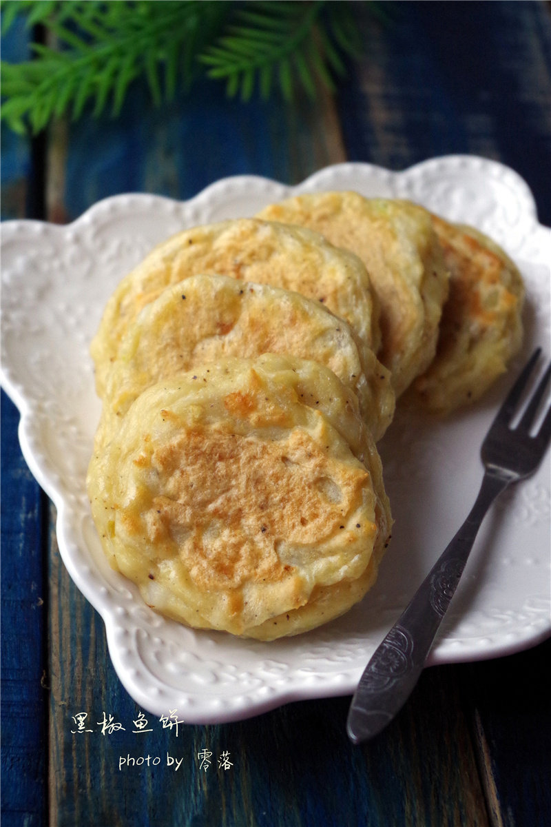
<instances>
[{"instance_id":1,"label":"frontmost fish cake, full browned round face showing","mask_svg":"<svg viewBox=\"0 0 551 827\"><path fill-rule=\"evenodd\" d=\"M268 354L150 387L88 471L112 566L162 614L263 640L333 619L372 585L391 515L364 463Z\"/></svg>"}]
</instances>

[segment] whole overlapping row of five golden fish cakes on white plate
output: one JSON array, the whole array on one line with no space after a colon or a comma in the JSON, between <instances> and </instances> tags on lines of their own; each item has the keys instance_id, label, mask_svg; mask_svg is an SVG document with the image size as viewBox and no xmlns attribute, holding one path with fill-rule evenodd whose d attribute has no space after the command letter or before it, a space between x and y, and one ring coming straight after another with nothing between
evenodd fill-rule
<instances>
[{"instance_id":1,"label":"whole overlapping row of five golden fish cakes on white plate","mask_svg":"<svg viewBox=\"0 0 551 827\"><path fill-rule=\"evenodd\" d=\"M195 628L271 640L343 614L390 535L376 442L396 400L477 399L523 299L491 239L399 199L305 194L159 245L91 348L112 566Z\"/></svg>"}]
</instances>

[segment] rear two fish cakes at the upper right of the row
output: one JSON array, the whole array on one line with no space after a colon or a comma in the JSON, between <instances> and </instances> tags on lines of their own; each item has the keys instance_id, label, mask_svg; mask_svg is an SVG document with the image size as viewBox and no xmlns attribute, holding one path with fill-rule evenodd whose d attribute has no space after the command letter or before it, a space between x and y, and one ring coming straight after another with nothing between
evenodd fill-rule
<instances>
[{"instance_id":1,"label":"rear two fish cakes at the upper right of the row","mask_svg":"<svg viewBox=\"0 0 551 827\"><path fill-rule=\"evenodd\" d=\"M520 350L522 277L477 229L353 192L298 195L259 218L310 227L362 259L380 308L376 352L403 404L450 414L479 399Z\"/></svg>"}]
</instances>

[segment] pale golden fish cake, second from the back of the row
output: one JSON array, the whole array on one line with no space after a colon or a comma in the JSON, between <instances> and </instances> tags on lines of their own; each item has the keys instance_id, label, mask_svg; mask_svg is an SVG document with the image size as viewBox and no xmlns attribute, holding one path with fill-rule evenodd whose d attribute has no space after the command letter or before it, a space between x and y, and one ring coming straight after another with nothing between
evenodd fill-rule
<instances>
[{"instance_id":1,"label":"pale golden fish cake, second from the back of the row","mask_svg":"<svg viewBox=\"0 0 551 827\"><path fill-rule=\"evenodd\" d=\"M325 192L273 204L259 218L311 227L362 259L380 306L378 358L392 371L397 396L403 393L435 355L448 294L430 214L406 201Z\"/></svg>"}]
</instances>

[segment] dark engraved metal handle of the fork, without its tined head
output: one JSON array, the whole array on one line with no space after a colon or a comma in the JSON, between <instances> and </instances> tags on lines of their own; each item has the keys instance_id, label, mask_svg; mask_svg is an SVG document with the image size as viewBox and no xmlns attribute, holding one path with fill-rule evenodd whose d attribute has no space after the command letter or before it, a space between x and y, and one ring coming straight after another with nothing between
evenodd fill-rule
<instances>
[{"instance_id":1,"label":"dark engraved metal handle of the fork, without its tined head","mask_svg":"<svg viewBox=\"0 0 551 827\"><path fill-rule=\"evenodd\" d=\"M377 735L406 703L454 596L482 519L511 481L486 471L467 519L373 653L349 710L346 729L353 743Z\"/></svg>"}]
</instances>

